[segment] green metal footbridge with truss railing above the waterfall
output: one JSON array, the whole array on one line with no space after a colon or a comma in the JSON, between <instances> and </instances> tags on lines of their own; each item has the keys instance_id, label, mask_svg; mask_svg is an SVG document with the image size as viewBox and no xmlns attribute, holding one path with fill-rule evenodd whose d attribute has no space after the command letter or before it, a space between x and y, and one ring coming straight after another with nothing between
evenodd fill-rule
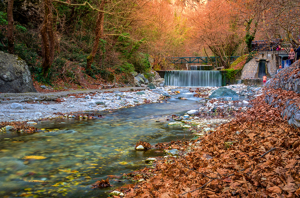
<instances>
[{"instance_id":1,"label":"green metal footbridge with truss railing above the waterfall","mask_svg":"<svg viewBox=\"0 0 300 198\"><path fill-rule=\"evenodd\" d=\"M235 61L239 56L230 56L230 61ZM212 62L220 62L219 56L210 56L210 57L166 57L166 60L171 63L210 63Z\"/></svg>"}]
</instances>

